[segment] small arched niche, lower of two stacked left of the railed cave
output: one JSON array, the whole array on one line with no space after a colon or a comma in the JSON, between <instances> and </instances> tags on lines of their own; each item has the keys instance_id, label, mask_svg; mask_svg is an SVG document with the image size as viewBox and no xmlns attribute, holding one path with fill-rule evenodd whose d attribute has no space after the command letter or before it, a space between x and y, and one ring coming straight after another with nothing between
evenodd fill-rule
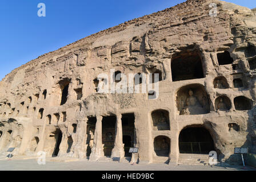
<instances>
[{"instance_id":1,"label":"small arched niche, lower of two stacked left of the railed cave","mask_svg":"<svg viewBox=\"0 0 256 182\"><path fill-rule=\"evenodd\" d=\"M154 151L157 156L169 156L170 154L170 138L166 136L158 136L154 139Z\"/></svg>"}]
</instances>

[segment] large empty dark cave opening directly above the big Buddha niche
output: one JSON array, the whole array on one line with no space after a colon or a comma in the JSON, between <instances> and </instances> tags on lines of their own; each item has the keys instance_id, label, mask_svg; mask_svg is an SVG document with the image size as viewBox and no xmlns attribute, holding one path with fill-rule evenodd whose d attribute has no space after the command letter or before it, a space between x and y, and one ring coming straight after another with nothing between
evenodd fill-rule
<instances>
[{"instance_id":1,"label":"large empty dark cave opening directly above the big Buddha niche","mask_svg":"<svg viewBox=\"0 0 256 182\"><path fill-rule=\"evenodd\" d=\"M202 59L198 51L183 51L173 55L171 76L173 81L204 78Z\"/></svg>"}]
</instances>

